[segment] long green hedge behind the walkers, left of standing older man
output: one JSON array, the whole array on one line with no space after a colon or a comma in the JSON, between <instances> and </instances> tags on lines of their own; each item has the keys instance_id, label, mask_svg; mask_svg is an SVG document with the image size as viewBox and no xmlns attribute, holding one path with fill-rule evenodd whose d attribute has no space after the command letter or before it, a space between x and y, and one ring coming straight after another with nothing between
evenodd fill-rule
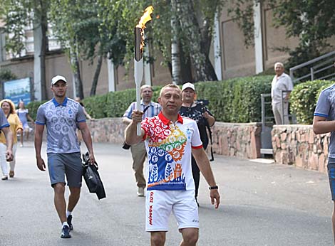
<instances>
[{"instance_id":1,"label":"long green hedge behind the walkers, left of standing older man","mask_svg":"<svg viewBox=\"0 0 335 246\"><path fill-rule=\"evenodd\" d=\"M209 109L219 122L260 122L261 94L270 93L273 76L237 77L230 80L197 82L197 98L209 100ZM153 100L157 102L162 86L153 87ZM86 97L86 111L92 117L121 117L131 102L136 100L135 89L108 92L105 95ZM31 102L27 107L34 118L40 102ZM267 115L272 115L267 107Z\"/></svg>"}]
</instances>

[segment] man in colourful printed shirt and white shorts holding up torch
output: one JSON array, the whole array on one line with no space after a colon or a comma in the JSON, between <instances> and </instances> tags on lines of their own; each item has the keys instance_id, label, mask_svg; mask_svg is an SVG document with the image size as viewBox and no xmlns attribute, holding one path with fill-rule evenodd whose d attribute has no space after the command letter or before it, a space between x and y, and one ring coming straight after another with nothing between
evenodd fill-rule
<instances>
[{"instance_id":1,"label":"man in colourful printed shirt and white shorts holding up torch","mask_svg":"<svg viewBox=\"0 0 335 246\"><path fill-rule=\"evenodd\" d=\"M169 217L173 213L182 234L182 246L195 246L199 237L199 215L195 201L191 156L195 157L209 189L215 208L220 195L210 161L202 148L197 123L178 114L182 92L177 85L160 90L158 116L142 121L143 112L133 110L132 121L125 129L125 141L137 144L145 140L148 154L148 184L145 197L145 230L150 232L150 245L165 245ZM137 124L141 134L137 134Z\"/></svg>"}]
</instances>

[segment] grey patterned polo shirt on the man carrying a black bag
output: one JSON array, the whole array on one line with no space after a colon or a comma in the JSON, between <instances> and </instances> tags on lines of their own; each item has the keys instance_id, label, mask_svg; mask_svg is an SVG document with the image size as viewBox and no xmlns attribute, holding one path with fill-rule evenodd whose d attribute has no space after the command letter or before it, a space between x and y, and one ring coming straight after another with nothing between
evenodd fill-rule
<instances>
[{"instance_id":1,"label":"grey patterned polo shirt on the man carrying a black bag","mask_svg":"<svg viewBox=\"0 0 335 246\"><path fill-rule=\"evenodd\" d=\"M37 110L36 124L46 125L47 153L80 152L77 124L86 122L83 107L75 100L65 98L62 104L53 98Z\"/></svg>"}]
</instances>

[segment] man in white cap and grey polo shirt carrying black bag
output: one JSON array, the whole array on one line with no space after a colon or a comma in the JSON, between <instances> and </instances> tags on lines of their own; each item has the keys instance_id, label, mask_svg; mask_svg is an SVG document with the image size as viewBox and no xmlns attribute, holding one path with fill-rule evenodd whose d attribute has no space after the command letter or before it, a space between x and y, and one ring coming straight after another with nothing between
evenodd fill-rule
<instances>
[{"instance_id":1,"label":"man in white cap and grey polo shirt carrying black bag","mask_svg":"<svg viewBox=\"0 0 335 246\"><path fill-rule=\"evenodd\" d=\"M54 203L62 223L61 237L71 237L72 211L81 193L82 166L77 127L81 130L91 164L95 163L91 133L86 124L83 107L66 97L66 78L57 75L51 80L53 99L38 108L35 129L35 151L38 169L46 171L41 158L43 129L46 126L48 173L54 191ZM65 200L65 175L70 188L68 208Z\"/></svg>"}]
</instances>

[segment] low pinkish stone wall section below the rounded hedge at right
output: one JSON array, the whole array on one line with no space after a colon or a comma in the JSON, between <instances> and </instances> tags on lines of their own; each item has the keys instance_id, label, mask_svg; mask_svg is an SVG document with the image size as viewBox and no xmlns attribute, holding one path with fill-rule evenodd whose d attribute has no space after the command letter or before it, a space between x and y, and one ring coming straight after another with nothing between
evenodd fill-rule
<instances>
[{"instance_id":1,"label":"low pinkish stone wall section below the rounded hedge at right","mask_svg":"<svg viewBox=\"0 0 335 246\"><path fill-rule=\"evenodd\" d=\"M326 172L330 134L316 135L311 125L281 125L272 129L274 161Z\"/></svg>"}]
</instances>

